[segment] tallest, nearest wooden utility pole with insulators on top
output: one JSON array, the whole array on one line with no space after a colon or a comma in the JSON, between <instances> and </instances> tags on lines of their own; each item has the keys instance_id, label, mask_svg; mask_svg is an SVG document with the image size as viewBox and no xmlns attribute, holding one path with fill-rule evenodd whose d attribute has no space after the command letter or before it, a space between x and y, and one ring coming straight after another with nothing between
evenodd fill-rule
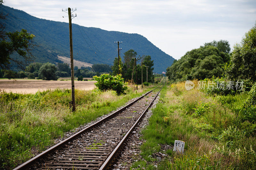
<instances>
[{"instance_id":1,"label":"tallest, nearest wooden utility pole with insulators on top","mask_svg":"<svg viewBox=\"0 0 256 170\"><path fill-rule=\"evenodd\" d=\"M63 9L62 9L63 11ZM67 9L66 9L67 11ZM63 12L66 12L66 11L63 11ZM72 8L72 12L76 11L73 10ZM71 67L71 95L72 95L72 102L70 102L72 104L72 112L74 112L76 110L76 102L75 102L75 82L74 82L74 63L73 63L73 41L72 41L72 22L71 20L73 18L75 18L76 16L74 16L74 14L72 14L72 17L71 18L71 9L68 8L68 21L69 21L69 44L70 44L70 67Z\"/></svg>"}]
</instances>

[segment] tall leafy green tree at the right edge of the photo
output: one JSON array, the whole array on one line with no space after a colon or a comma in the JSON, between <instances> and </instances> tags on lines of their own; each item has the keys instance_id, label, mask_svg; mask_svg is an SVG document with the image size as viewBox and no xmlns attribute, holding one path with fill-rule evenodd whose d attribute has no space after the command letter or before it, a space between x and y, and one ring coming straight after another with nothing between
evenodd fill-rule
<instances>
[{"instance_id":1,"label":"tall leafy green tree at the right edge of the photo","mask_svg":"<svg viewBox=\"0 0 256 170\"><path fill-rule=\"evenodd\" d=\"M256 81L256 24L234 46L229 64L225 68L228 78Z\"/></svg>"}]
</instances>

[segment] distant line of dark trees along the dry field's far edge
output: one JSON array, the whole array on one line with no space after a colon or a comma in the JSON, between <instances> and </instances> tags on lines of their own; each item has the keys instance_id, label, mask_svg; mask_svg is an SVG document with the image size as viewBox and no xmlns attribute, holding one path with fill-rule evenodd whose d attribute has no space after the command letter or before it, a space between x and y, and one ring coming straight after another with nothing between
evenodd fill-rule
<instances>
[{"instance_id":1,"label":"distant line of dark trees along the dry field's far edge","mask_svg":"<svg viewBox=\"0 0 256 170\"><path fill-rule=\"evenodd\" d=\"M84 77L93 77L103 73L111 72L111 68L107 64L95 64L92 67L74 67L74 76L79 77L79 80L83 80ZM69 64L58 63L57 65L52 63L31 63L25 70L15 71L0 71L0 78L26 78L29 79L42 79L42 80L57 80L59 77L70 77Z\"/></svg>"}]
</instances>

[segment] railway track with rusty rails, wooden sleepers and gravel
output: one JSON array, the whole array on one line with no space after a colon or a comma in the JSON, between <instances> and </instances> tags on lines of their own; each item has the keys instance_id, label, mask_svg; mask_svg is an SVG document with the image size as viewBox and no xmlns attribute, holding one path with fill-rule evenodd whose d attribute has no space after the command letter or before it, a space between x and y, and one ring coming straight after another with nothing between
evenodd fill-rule
<instances>
[{"instance_id":1,"label":"railway track with rusty rails, wooden sleepers and gravel","mask_svg":"<svg viewBox=\"0 0 256 170\"><path fill-rule=\"evenodd\" d=\"M107 169L164 85L160 86L158 92L154 92L155 89L149 91L132 103L54 145L14 170L29 168Z\"/></svg>"}]
</instances>

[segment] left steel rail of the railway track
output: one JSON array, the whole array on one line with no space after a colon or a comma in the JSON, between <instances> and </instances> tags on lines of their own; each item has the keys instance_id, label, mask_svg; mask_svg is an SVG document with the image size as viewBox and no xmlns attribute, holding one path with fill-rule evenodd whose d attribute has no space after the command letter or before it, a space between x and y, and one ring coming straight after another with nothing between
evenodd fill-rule
<instances>
[{"instance_id":1,"label":"left steel rail of the railway track","mask_svg":"<svg viewBox=\"0 0 256 170\"><path fill-rule=\"evenodd\" d=\"M161 86L162 84L163 84L163 82L162 82L159 86ZM158 87L159 87L159 86L158 86ZM156 88L158 88L158 87L156 87ZM155 88L155 89L156 89L156 88ZM58 148L64 146L66 143L68 143L68 142L74 140L76 137L78 137L79 135L83 134L83 133L86 132L87 130L90 130L91 128L94 128L95 126L98 126L100 123L104 122L105 120L108 120L108 119L114 117L114 116L115 116L116 114L118 114L119 112L124 111L126 108L130 107L132 104L136 103L136 102L139 101L141 98L145 97L146 95L148 95L149 93L151 93L151 92L152 92L153 90L155 90L155 89L152 89L152 90L148 91L147 93L145 93L144 95L142 95L142 96L139 97L138 99L136 99L136 100L132 101L131 103L125 105L124 107L120 108L120 109L117 110L116 112L114 112L114 113L108 115L107 117L105 117L105 118L103 118L103 119L101 119L101 120L99 120L99 121L93 123L92 125L90 125L90 126L84 128L83 130L77 132L76 134L74 134L74 135L68 137L67 139L61 141L60 143L55 144L55 145L52 146L51 148L49 148L49 149L43 151L42 153L36 155L35 157L29 159L28 161L26 161L25 163L21 164L20 166L17 166L17 167L14 168L13 170L23 170L23 169L28 168L29 166L31 166L32 164L34 164L34 163L35 163L36 161L38 161L39 159L44 158L46 155L48 155L48 154L52 153L53 151L57 150ZM158 93L159 93L159 92L158 92ZM157 94L158 94L158 93L157 93ZM156 95L156 96L157 96L157 95ZM154 98L154 99L155 99L155 98Z\"/></svg>"}]
</instances>

